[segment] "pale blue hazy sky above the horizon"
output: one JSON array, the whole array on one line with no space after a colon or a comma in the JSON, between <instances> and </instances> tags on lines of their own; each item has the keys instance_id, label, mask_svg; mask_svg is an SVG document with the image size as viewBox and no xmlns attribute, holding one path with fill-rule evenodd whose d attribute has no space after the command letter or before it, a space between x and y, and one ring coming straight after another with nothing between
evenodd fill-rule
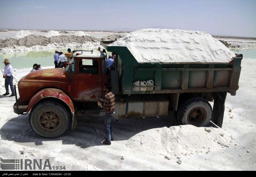
<instances>
[{"instance_id":1,"label":"pale blue hazy sky above the horizon","mask_svg":"<svg viewBox=\"0 0 256 177\"><path fill-rule=\"evenodd\" d=\"M256 37L256 0L0 0L0 29L168 28Z\"/></svg>"}]
</instances>

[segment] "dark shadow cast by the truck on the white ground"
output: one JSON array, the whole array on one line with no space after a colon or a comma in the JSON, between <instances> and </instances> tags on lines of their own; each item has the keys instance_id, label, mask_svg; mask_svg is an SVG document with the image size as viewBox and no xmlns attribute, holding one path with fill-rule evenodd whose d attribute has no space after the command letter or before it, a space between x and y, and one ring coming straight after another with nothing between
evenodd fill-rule
<instances>
[{"instance_id":1,"label":"dark shadow cast by the truck on the white ground","mask_svg":"<svg viewBox=\"0 0 256 177\"><path fill-rule=\"evenodd\" d=\"M29 115L20 115L7 121L0 129L1 139L17 143L35 143L40 146L45 141L62 140L62 144L75 144L81 148L101 146L105 139L103 129L105 114L99 116L78 116L78 124L74 131L70 131L59 138L43 138L35 133L29 124ZM128 140L139 132L161 127L178 125L175 113L170 112L167 117L141 117L119 118L114 124L114 141Z\"/></svg>"}]
</instances>

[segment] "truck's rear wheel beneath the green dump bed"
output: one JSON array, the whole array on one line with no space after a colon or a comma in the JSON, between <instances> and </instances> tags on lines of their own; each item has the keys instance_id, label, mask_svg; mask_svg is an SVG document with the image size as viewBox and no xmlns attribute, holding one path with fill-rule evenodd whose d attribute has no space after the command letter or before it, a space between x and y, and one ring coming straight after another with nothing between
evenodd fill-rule
<instances>
[{"instance_id":1,"label":"truck's rear wheel beneath the green dump bed","mask_svg":"<svg viewBox=\"0 0 256 177\"><path fill-rule=\"evenodd\" d=\"M210 123L212 107L206 99L192 97L184 101L177 111L177 121L182 125L205 127Z\"/></svg>"}]
</instances>

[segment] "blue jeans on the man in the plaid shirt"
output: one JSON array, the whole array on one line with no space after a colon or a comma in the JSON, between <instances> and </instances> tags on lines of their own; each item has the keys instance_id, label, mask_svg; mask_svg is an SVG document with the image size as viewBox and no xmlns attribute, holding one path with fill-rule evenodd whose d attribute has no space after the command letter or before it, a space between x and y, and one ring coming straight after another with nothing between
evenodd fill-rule
<instances>
[{"instance_id":1,"label":"blue jeans on the man in the plaid shirt","mask_svg":"<svg viewBox=\"0 0 256 177\"><path fill-rule=\"evenodd\" d=\"M106 114L105 115L105 133L106 133L106 141L111 143L111 139L113 139L114 133L114 114Z\"/></svg>"}]
</instances>

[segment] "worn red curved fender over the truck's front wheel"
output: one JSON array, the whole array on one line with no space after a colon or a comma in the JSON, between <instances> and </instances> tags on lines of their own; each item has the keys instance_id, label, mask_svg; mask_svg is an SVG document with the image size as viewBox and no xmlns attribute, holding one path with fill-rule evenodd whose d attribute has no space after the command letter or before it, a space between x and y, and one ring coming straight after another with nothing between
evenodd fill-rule
<instances>
[{"instance_id":1,"label":"worn red curved fender over the truck's front wheel","mask_svg":"<svg viewBox=\"0 0 256 177\"><path fill-rule=\"evenodd\" d=\"M60 89L54 89L54 88L47 88L40 90L38 93L36 93L30 100L29 105L27 106L26 112L30 112L30 110L33 108L33 106L39 102L41 99L44 98L57 98L63 101L67 104L67 106L70 109L71 116L72 116L72 126L71 130L74 130L76 127L76 118L75 118L75 109L74 104L71 100L71 98L62 90Z\"/></svg>"}]
</instances>

